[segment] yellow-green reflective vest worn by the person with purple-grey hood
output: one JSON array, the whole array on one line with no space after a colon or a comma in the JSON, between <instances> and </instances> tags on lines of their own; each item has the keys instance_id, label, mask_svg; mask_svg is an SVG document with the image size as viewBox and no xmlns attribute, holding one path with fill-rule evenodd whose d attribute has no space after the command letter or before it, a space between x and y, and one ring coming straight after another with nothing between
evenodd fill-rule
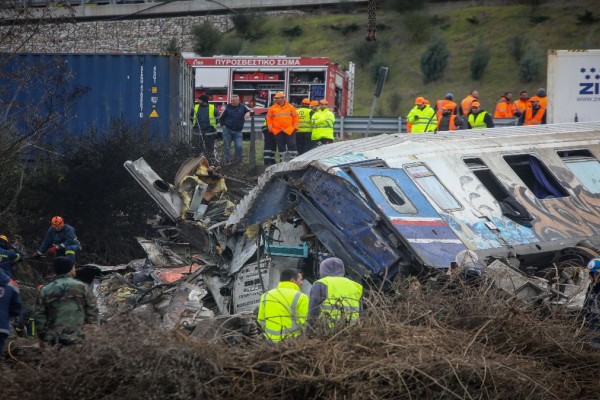
<instances>
[{"instance_id":1,"label":"yellow-green reflective vest worn by the person with purple-grey hood","mask_svg":"<svg viewBox=\"0 0 600 400\"><path fill-rule=\"evenodd\" d=\"M326 276L317 282L327 286L327 298L321 304L321 315L330 328L336 323L358 320L362 285L343 276Z\"/></svg>"}]
</instances>

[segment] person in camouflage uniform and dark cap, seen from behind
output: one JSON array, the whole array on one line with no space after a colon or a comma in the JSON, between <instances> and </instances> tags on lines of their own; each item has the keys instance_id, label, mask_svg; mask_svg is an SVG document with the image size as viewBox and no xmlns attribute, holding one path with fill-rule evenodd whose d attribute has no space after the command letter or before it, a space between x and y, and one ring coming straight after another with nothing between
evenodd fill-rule
<instances>
[{"instance_id":1,"label":"person in camouflage uniform and dark cap, seen from behind","mask_svg":"<svg viewBox=\"0 0 600 400\"><path fill-rule=\"evenodd\" d=\"M69 257L55 257L56 279L40 291L35 312L38 338L49 344L69 345L83 339L83 324L98 322L98 307L91 289L75 277Z\"/></svg>"}]
</instances>

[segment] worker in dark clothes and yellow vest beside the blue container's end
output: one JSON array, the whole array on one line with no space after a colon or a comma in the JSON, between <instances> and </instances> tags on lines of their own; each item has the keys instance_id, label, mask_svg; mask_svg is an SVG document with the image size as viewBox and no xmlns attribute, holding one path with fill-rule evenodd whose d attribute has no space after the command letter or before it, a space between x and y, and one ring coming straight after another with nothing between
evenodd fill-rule
<instances>
[{"instance_id":1,"label":"worker in dark clothes and yellow vest beside the blue container's end","mask_svg":"<svg viewBox=\"0 0 600 400\"><path fill-rule=\"evenodd\" d=\"M192 110L192 138L194 147L204 154L210 163L216 162L215 139L217 138L217 121L219 111L214 104L209 104L205 94L198 98Z\"/></svg>"}]
</instances>

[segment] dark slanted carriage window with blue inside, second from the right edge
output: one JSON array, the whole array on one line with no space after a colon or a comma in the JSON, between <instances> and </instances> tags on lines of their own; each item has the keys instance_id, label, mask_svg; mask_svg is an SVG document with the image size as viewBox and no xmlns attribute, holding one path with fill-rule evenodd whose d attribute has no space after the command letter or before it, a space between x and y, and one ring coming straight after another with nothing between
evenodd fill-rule
<instances>
[{"instance_id":1,"label":"dark slanted carriage window with blue inside, second from the right edge","mask_svg":"<svg viewBox=\"0 0 600 400\"><path fill-rule=\"evenodd\" d=\"M519 154L504 156L504 160L538 199L569 195L537 157L531 154Z\"/></svg>"}]
</instances>

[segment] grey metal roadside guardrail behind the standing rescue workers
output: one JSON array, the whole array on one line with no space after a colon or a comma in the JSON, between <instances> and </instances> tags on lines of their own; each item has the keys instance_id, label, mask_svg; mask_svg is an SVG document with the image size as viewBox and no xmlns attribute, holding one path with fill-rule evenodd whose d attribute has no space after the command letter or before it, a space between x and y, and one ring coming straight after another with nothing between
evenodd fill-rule
<instances>
[{"instance_id":1,"label":"grey metal roadside guardrail behind the standing rescue workers","mask_svg":"<svg viewBox=\"0 0 600 400\"><path fill-rule=\"evenodd\" d=\"M254 123L257 131L263 126L265 116L257 115ZM516 126L517 118L495 118L497 127ZM364 133L367 131L369 117L337 117L333 130L338 137L345 137L350 133ZM250 132L250 120L244 124L244 132ZM370 136L380 133L406 133L406 117L374 117L371 120Z\"/></svg>"}]
</instances>

